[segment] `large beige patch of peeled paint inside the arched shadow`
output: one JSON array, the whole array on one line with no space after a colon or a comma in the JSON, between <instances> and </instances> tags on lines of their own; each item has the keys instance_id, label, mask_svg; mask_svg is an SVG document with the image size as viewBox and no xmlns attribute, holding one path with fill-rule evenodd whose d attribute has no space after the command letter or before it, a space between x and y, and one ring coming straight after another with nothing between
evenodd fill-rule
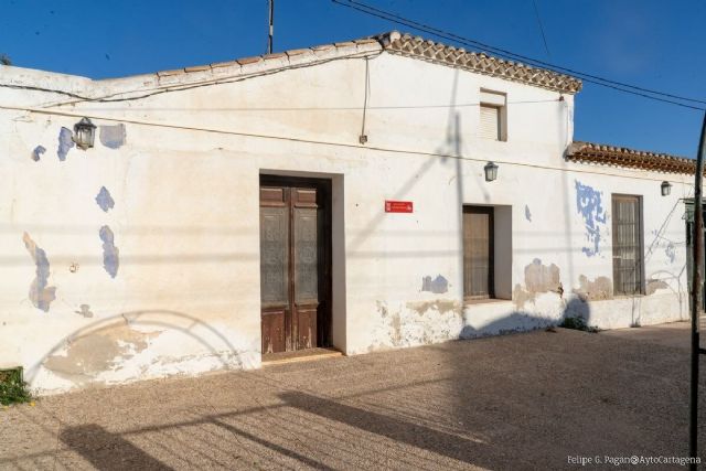
<instances>
[{"instance_id":1,"label":"large beige patch of peeled paint inside the arched shadow","mask_svg":"<svg viewBox=\"0 0 706 471\"><path fill-rule=\"evenodd\" d=\"M118 370L121 362L147 349L154 335L127 325L92 332L71 341L64 354L49 356L43 366L66 379L85 382Z\"/></svg>"}]
</instances>

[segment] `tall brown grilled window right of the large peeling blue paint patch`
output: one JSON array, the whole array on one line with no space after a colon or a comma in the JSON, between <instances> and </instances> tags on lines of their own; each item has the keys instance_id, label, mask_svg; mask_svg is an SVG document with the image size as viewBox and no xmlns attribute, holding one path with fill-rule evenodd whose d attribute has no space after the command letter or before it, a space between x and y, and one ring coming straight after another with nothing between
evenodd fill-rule
<instances>
[{"instance_id":1,"label":"tall brown grilled window right of the large peeling blue paint patch","mask_svg":"<svg viewBox=\"0 0 706 471\"><path fill-rule=\"evenodd\" d=\"M613 195L613 292L641 295L642 201L640 196Z\"/></svg>"}]
</instances>

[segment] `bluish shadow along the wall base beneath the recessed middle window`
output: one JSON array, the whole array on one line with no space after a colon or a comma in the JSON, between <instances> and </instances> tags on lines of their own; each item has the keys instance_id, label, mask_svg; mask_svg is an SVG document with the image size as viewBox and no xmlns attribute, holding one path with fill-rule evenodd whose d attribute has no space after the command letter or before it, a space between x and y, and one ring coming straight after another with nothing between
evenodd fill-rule
<instances>
[{"instance_id":1,"label":"bluish shadow along the wall base beneath the recessed middle window","mask_svg":"<svg viewBox=\"0 0 706 471\"><path fill-rule=\"evenodd\" d=\"M556 317L538 315L533 312L515 311L501 319L492 321L482 328L464 325L461 330L461 339L478 339L491 335L504 335L510 333L528 332L537 329L547 329L561 324L566 319L581 319L585 324L590 324L590 306L578 297L571 297L565 301L561 314Z\"/></svg>"}]
</instances>

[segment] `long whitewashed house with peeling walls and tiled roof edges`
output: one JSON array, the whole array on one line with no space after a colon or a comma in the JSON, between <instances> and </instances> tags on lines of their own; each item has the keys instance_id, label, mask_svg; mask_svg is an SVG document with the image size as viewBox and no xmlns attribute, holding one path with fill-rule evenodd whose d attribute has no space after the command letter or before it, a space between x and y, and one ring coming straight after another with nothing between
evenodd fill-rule
<instances>
[{"instance_id":1,"label":"long whitewashed house with peeling walls and tiled roof edges","mask_svg":"<svg viewBox=\"0 0 706 471\"><path fill-rule=\"evenodd\" d=\"M397 32L119 79L0 66L0 361L52 393L686 319L693 161L574 142L580 87Z\"/></svg>"}]
</instances>

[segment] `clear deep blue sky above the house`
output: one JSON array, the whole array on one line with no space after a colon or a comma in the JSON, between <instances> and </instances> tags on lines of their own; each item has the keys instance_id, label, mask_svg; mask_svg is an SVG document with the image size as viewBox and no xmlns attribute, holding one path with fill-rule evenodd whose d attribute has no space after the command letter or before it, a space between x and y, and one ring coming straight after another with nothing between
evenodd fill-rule
<instances>
[{"instance_id":1,"label":"clear deep blue sky above the house","mask_svg":"<svg viewBox=\"0 0 706 471\"><path fill-rule=\"evenodd\" d=\"M365 0L518 54L706 100L703 0ZM0 53L14 65L94 78L261 54L266 0L0 0ZM277 0L275 50L345 41L391 22L329 0ZM428 34L425 34L428 36ZM703 105L702 105L703 106ZM702 111L585 84L577 140L695 157Z\"/></svg>"}]
</instances>

